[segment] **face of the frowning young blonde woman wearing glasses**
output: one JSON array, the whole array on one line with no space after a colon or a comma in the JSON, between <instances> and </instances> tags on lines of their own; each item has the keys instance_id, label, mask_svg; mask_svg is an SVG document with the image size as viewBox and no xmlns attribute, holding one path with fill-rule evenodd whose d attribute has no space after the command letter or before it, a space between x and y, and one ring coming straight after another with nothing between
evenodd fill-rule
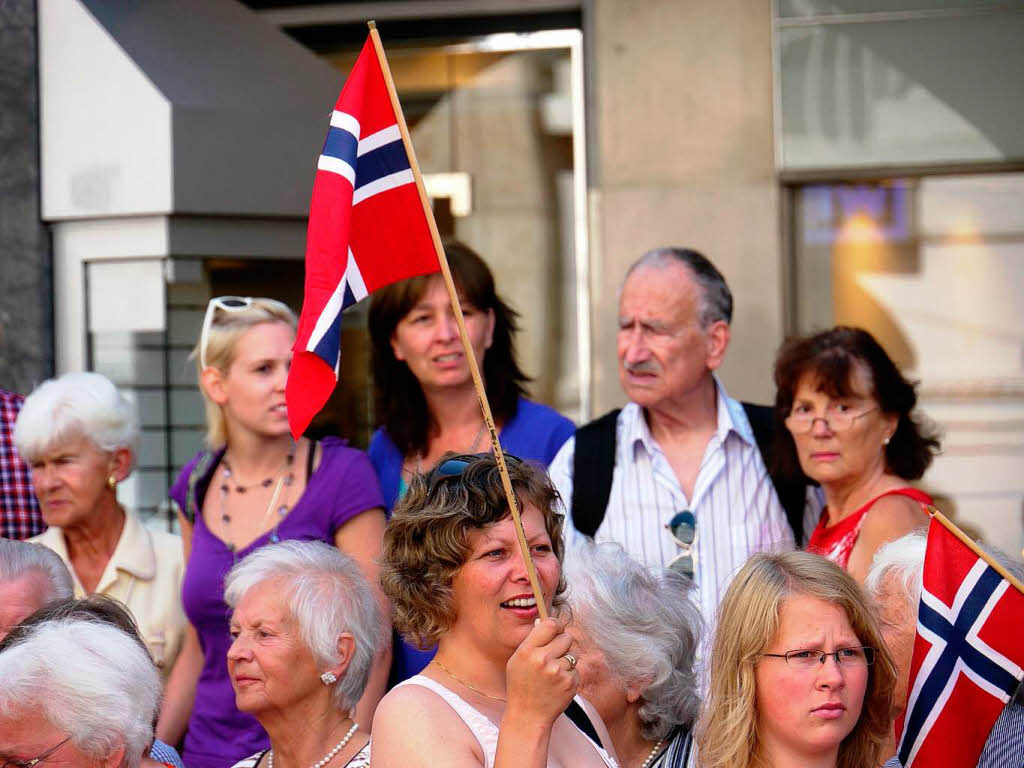
<instances>
[{"instance_id":1,"label":"face of the frowning young blonde woman wearing glasses","mask_svg":"<svg viewBox=\"0 0 1024 768\"><path fill-rule=\"evenodd\" d=\"M806 595L782 603L775 638L764 653L827 653L861 645L846 611ZM809 669L762 656L755 669L758 732L771 754L823 756L839 750L853 730L867 690L868 668L840 666L834 656Z\"/></svg>"}]
</instances>

